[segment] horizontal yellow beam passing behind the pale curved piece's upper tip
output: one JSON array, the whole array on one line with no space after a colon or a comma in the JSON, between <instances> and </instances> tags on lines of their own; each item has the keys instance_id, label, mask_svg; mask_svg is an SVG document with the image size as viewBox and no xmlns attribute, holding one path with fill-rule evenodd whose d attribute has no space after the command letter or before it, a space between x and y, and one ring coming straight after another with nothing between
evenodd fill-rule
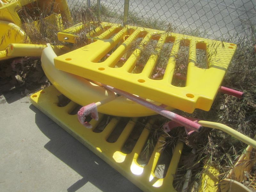
<instances>
[{"instance_id":1,"label":"horizontal yellow beam passing behind the pale curved piece's upper tip","mask_svg":"<svg viewBox=\"0 0 256 192\"><path fill-rule=\"evenodd\" d=\"M11 57L41 57L46 44L9 44L6 50L6 56ZM52 45L52 49L56 54L63 54L70 51L67 46Z\"/></svg>"}]
</instances>

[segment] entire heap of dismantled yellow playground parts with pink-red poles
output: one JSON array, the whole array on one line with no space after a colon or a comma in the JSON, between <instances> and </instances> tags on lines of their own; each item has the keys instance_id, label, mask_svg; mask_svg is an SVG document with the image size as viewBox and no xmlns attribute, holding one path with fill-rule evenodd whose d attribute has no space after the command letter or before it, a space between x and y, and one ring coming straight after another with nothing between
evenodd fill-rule
<instances>
[{"instance_id":1,"label":"entire heap of dismantled yellow playground parts with pink-red poles","mask_svg":"<svg viewBox=\"0 0 256 192\"><path fill-rule=\"evenodd\" d=\"M41 57L42 68L52 86L31 95L31 102L77 140L131 180L143 191L175 191L174 175L180 161L183 143L178 141L164 178L156 176L155 169L161 156L165 136L158 138L148 164L138 164L138 157L149 135L150 127L156 121L153 116L138 136L130 153L121 149L136 129L135 122L141 116L160 114L169 118L163 125L165 132L175 127L185 127L186 133L200 132L203 127L219 129L248 144L246 153L237 161L236 169L226 179L218 180L218 170L204 167L200 191L250 191L241 182L243 170L252 169L252 150L256 141L236 130L215 122L185 118L174 112L179 109L193 113L195 109L209 111L218 92L236 97L243 93L222 87L221 83L236 51L236 44L215 41L150 28L91 21L72 25L73 20L65 0L2 0L0 1L0 60L14 57ZM127 5L126 5L127 6ZM22 16L24 8L44 12L43 22L58 28L56 44L34 44L23 30L33 24L40 28L37 12L26 12L33 21ZM128 9L125 7L125 10ZM24 12L23 12L24 15ZM124 17L126 18L126 17ZM94 26L84 38L87 44L76 47L79 33L88 26ZM156 42L154 51L145 60L140 60L143 49L150 42ZM61 42L61 43L60 43ZM134 47L134 42L137 46ZM167 62L159 67L159 55L167 44L172 49ZM188 63L185 75L176 73L175 65L180 47L188 48ZM198 51L204 51L205 66L198 66ZM140 63L139 63L140 61ZM140 70L136 70L140 65ZM156 72L157 71L157 72ZM159 76L159 73L161 75ZM179 77L185 84L173 84ZM71 102L64 107L57 105L58 96L65 95ZM84 106L71 115L77 106ZM99 113L98 113L99 111ZM106 115L113 116L101 132L95 132L104 122ZM108 136L118 126L121 117L130 117L118 139L110 143ZM244 166L241 161L250 161ZM186 173L188 178L191 173ZM188 180L189 181L189 180ZM183 188L188 186L184 182Z\"/></svg>"}]
</instances>

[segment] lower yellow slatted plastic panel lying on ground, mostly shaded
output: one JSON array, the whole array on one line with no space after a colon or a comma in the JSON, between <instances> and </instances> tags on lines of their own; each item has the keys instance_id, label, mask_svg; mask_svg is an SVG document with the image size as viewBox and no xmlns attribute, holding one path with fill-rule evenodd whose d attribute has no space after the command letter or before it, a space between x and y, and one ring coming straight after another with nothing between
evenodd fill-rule
<instances>
[{"instance_id":1,"label":"lower yellow slatted plastic panel lying on ground, mostly shaded","mask_svg":"<svg viewBox=\"0 0 256 192\"><path fill-rule=\"evenodd\" d=\"M132 148L132 152L125 154L121 149L132 130L136 129L135 124L138 120L137 118L130 118L128 123L125 123L124 129L117 140L115 142L108 142L107 139L109 135L113 132L116 126L120 125L120 117L112 117L111 120L106 123L103 131L96 132L95 130L97 126L103 122L104 116L106 116L104 114L99 114L98 121L95 121L94 119L90 121L93 128L86 129L78 122L76 114L72 115L71 113L77 108L78 105L76 103L70 101L64 107L58 106L58 96L60 95L61 93L54 86L50 86L31 95L30 99L34 106L39 108L64 130L74 136L143 191L175 191L172 184L180 160L183 143L178 142L176 144L165 177L158 178L154 172L162 153L159 148L163 145L162 142L164 141L164 136L159 137L156 142L148 164L142 166L137 162L140 153L148 140L150 133L149 127L152 122L145 123L145 127L141 134L138 135L138 140Z\"/></svg>"}]
</instances>

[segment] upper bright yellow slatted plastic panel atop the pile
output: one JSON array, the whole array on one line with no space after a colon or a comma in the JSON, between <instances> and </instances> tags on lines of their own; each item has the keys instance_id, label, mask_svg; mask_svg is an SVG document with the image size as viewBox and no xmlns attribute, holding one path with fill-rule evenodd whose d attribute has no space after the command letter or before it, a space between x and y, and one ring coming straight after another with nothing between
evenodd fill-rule
<instances>
[{"instance_id":1,"label":"upper bright yellow slatted plastic panel atop the pile","mask_svg":"<svg viewBox=\"0 0 256 192\"><path fill-rule=\"evenodd\" d=\"M55 67L189 113L195 108L210 110L236 50L235 44L148 28L102 25L92 32L93 43L56 57ZM139 47L131 53L133 42L139 38L142 38ZM152 40L157 41L155 51L148 60L141 61L145 47ZM160 63L160 71L164 71L162 79L156 80L152 72L158 67L157 59L166 43L172 43L172 49L166 56L167 64L162 66ZM172 84L174 73L179 72L175 64L181 46L189 49L184 63L187 67L185 87ZM205 68L196 67L196 56L200 50L206 52ZM110 56L104 59L108 53ZM122 63L120 58L123 57L127 60ZM143 69L136 73L134 69L138 65Z\"/></svg>"}]
</instances>

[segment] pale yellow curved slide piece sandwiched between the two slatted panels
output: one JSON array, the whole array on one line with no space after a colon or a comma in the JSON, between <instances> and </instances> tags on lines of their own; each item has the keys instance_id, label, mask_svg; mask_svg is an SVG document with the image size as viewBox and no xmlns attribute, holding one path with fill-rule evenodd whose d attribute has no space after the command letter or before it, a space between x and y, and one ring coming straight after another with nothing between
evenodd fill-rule
<instances>
[{"instance_id":1,"label":"pale yellow curved slide piece sandwiched between the two slatted panels","mask_svg":"<svg viewBox=\"0 0 256 192\"><path fill-rule=\"evenodd\" d=\"M105 88L90 83L80 76L56 69L53 61L55 57L57 57L57 55L52 50L51 45L47 44L47 47L43 50L41 57L42 68L50 82L63 95L72 101L85 106L114 96L113 92L107 91ZM156 105L160 105L160 103L154 103ZM98 111L108 115L127 117L150 116L156 114L154 111L124 97L116 98L114 101L101 105L98 107Z\"/></svg>"}]
</instances>

